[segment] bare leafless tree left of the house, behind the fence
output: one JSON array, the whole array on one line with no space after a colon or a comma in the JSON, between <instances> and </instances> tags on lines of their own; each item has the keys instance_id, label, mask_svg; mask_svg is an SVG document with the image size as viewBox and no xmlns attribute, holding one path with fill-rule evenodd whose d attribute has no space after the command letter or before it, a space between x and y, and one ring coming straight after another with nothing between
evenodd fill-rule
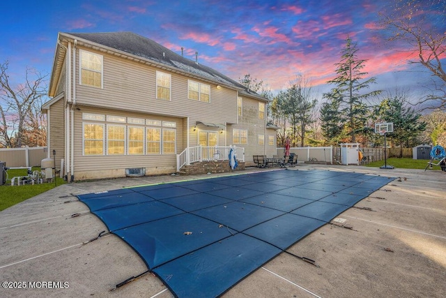
<instances>
[{"instance_id":1,"label":"bare leafless tree left of the house, behind the fence","mask_svg":"<svg viewBox=\"0 0 446 298\"><path fill-rule=\"evenodd\" d=\"M22 147L29 145L25 137L29 131L43 127L40 104L47 94L47 75L27 68L25 82L13 85L8 66L9 61L0 64L0 144Z\"/></svg>"}]
</instances>

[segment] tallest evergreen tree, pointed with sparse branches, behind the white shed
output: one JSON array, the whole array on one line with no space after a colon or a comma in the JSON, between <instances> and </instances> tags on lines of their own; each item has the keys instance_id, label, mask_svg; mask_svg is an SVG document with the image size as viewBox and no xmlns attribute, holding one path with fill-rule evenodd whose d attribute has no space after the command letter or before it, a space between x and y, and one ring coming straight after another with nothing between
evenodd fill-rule
<instances>
[{"instance_id":1,"label":"tallest evergreen tree, pointed with sparse branches, behind the white shed","mask_svg":"<svg viewBox=\"0 0 446 298\"><path fill-rule=\"evenodd\" d=\"M346 46L341 51L341 61L334 64L337 66L337 77L328 81L328 84L334 84L336 87L324 94L324 98L339 102L339 112L352 142L356 142L357 133L362 133L364 128L367 128L369 109L363 100L380 94L380 91L364 93L364 89L368 89L376 79L371 77L363 80L367 73L362 69L367 60L358 59L357 51L357 44L347 37Z\"/></svg>"}]
</instances>

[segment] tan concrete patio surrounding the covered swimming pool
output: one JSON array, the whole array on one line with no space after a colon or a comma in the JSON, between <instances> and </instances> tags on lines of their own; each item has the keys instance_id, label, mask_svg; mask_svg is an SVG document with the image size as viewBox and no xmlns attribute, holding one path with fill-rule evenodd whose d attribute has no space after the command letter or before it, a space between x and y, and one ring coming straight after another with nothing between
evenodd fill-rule
<instances>
[{"instance_id":1,"label":"tan concrete patio surrounding the covered swimming pool","mask_svg":"<svg viewBox=\"0 0 446 298\"><path fill-rule=\"evenodd\" d=\"M282 253L224 297L445 297L445 172L345 165L290 168L315 169L397 179L340 214L344 223L324 225L289 248L319 267ZM107 229L70 194L217 175L224 174L64 184L1 211L0 297L172 297L151 274L110 291L146 271L146 265L114 235L83 245Z\"/></svg>"}]
</instances>

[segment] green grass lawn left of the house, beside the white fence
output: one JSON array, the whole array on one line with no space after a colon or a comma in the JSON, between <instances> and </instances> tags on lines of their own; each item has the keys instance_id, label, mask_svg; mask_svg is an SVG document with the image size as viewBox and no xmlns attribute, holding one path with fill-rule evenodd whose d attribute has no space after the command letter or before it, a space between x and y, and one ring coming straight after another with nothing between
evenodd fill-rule
<instances>
[{"instance_id":1,"label":"green grass lawn left of the house, beside the white fence","mask_svg":"<svg viewBox=\"0 0 446 298\"><path fill-rule=\"evenodd\" d=\"M40 167L33 167L32 170L40 170ZM45 193L45 191L49 191L55 187L54 181L52 183L44 184L26 184L24 186L17 186L16 184L15 186L11 186L10 179L17 176L26 176L26 172L26 169L7 171L8 180L5 185L0 186L0 211L32 198L35 195ZM57 185L61 185L66 182L58 177L56 183Z\"/></svg>"}]
</instances>

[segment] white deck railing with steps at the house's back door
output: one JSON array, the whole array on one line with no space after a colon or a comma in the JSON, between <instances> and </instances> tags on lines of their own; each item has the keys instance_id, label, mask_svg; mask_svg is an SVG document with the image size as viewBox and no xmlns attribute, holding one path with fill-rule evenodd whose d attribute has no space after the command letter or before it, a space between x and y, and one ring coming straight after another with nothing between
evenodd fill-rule
<instances>
[{"instance_id":1,"label":"white deck railing with steps at the house's back door","mask_svg":"<svg viewBox=\"0 0 446 298\"><path fill-rule=\"evenodd\" d=\"M198 161L228 161L229 151L236 150L238 161L245 161L245 148L235 146L195 146L187 147L180 154L176 155L176 171L190 163Z\"/></svg>"}]
</instances>

